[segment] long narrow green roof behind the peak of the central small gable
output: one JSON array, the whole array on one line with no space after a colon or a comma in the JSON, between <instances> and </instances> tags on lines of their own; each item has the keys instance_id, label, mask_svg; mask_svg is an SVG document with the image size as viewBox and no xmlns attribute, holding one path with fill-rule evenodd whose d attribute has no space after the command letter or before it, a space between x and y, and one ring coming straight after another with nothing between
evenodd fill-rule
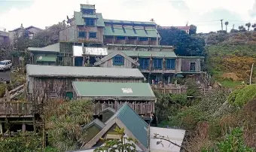
<instances>
[{"instance_id":1,"label":"long narrow green roof behind the peak of the central small gable","mask_svg":"<svg viewBox=\"0 0 256 152\"><path fill-rule=\"evenodd\" d=\"M112 53L116 50L108 50L108 53ZM120 50L127 56L139 56L139 57L166 57L166 58L177 58L173 51L162 52L162 51L137 51L137 50Z\"/></svg>"}]
</instances>

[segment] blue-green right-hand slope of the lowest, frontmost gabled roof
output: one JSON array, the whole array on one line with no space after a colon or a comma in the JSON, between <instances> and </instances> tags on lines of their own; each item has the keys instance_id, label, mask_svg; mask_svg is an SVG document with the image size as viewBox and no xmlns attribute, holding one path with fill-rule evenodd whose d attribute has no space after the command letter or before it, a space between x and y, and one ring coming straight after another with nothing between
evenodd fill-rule
<instances>
[{"instance_id":1,"label":"blue-green right-hand slope of the lowest, frontmost gabled roof","mask_svg":"<svg viewBox=\"0 0 256 152\"><path fill-rule=\"evenodd\" d=\"M148 123L136 114L130 105L124 103L122 107L105 123L108 124L109 121L117 117L130 132L139 140L145 147L148 147Z\"/></svg>"}]
</instances>

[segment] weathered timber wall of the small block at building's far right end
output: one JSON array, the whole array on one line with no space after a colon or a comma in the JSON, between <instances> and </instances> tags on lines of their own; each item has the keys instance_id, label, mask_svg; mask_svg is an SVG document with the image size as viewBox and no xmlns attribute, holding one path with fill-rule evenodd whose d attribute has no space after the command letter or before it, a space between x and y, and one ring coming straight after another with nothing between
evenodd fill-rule
<instances>
[{"instance_id":1,"label":"weathered timber wall of the small block at building's far right end","mask_svg":"<svg viewBox=\"0 0 256 152\"><path fill-rule=\"evenodd\" d=\"M181 59L181 71L190 71L190 62L196 62L196 70L201 71L200 59Z\"/></svg>"}]
</instances>

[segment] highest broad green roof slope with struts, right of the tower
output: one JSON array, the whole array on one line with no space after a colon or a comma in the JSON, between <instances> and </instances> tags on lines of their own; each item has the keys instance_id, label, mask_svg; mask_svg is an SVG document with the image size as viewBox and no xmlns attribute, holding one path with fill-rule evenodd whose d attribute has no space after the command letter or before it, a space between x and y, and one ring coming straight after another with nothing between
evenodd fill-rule
<instances>
[{"instance_id":1,"label":"highest broad green roof slope with struts, right of the tower","mask_svg":"<svg viewBox=\"0 0 256 152\"><path fill-rule=\"evenodd\" d=\"M124 32L125 31L125 32ZM134 32L133 28L124 27L114 27L111 29L111 26L105 26L104 35L107 36L130 36L130 37L147 37L147 38L160 38L160 35L157 34L157 29L143 29L136 28Z\"/></svg>"}]
</instances>

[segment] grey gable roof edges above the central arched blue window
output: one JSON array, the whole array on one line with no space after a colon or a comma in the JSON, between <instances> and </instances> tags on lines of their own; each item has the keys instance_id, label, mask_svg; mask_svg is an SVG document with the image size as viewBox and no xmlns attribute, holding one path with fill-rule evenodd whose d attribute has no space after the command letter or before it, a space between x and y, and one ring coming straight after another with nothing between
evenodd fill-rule
<instances>
[{"instance_id":1,"label":"grey gable roof edges above the central arched blue window","mask_svg":"<svg viewBox=\"0 0 256 152\"><path fill-rule=\"evenodd\" d=\"M114 56L116 55L120 55L120 56L123 56L125 59L128 59L130 62L133 62L133 64L135 65L138 65L139 66L139 63L136 62L134 59L130 58L130 56L127 56L125 53L121 52L121 51L113 51L111 53L108 54L108 56L105 56L103 57L102 59L100 59L98 62L95 62L94 65L100 65L102 64L103 62L106 62L108 61L109 59L112 59Z\"/></svg>"}]
</instances>

